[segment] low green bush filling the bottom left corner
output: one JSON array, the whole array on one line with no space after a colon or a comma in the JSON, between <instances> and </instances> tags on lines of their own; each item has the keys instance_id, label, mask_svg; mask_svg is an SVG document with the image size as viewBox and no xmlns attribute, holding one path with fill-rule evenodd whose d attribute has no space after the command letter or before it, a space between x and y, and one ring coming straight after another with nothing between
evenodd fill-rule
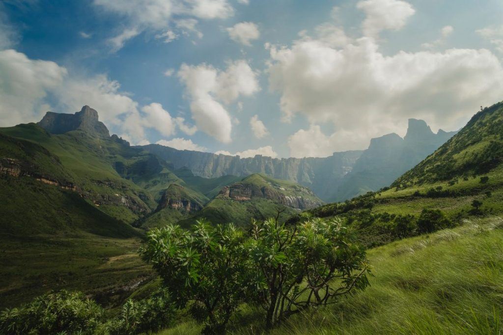
<instances>
[{"instance_id":1,"label":"low green bush filling the bottom left corner","mask_svg":"<svg viewBox=\"0 0 503 335\"><path fill-rule=\"evenodd\" d=\"M0 314L3 334L92 334L103 321L103 309L82 293L65 290L37 297Z\"/></svg>"}]
</instances>

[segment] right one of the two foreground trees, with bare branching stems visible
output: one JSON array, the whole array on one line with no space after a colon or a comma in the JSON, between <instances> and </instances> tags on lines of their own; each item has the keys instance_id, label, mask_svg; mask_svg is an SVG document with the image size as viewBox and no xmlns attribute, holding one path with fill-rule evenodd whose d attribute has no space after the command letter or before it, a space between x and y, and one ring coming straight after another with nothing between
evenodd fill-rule
<instances>
[{"instance_id":1,"label":"right one of the two foreground trees, with bare branching stems visible","mask_svg":"<svg viewBox=\"0 0 503 335\"><path fill-rule=\"evenodd\" d=\"M252 298L265 308L268 328L368 285L365 251L339 219L293 226L255 221L250 236L247 267L256 270L257 285Z\"/></svg>"}]
</instances>

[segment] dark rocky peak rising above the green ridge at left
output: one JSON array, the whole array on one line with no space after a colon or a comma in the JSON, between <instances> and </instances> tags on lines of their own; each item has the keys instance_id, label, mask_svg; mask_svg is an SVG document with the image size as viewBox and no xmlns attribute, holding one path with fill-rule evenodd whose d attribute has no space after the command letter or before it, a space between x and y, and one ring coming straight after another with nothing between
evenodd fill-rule
<instances>
[{"instance_id":1,"label":"dark rocky peak rising above the green ridge at left","mask_svg":"<svg viewBox=\"0 0 503 335\"><path fill-rule=\"evenodd\" d=\"M63 134L78 129L90 135L110 136L107 127L98 120L98 112L87 105L75 114L47 112L38 125L52 134Z\"/></svg>"}]
</instances>

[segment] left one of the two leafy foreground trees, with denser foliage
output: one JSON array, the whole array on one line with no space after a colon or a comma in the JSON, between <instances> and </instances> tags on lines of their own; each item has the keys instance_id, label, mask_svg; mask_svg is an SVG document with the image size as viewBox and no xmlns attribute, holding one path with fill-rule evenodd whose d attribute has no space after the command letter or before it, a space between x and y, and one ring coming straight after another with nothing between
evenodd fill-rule
<instances>
[{"instance_id":1,"label":"left one of the two leafy foreground trees, with denser foliage","mask_svg":"<svg viewBox=\"0 0 503 335\"><path fill-rule=\"evenodd\" d=\"M243 241L243 232L233 225L198 221L191 231L180 226L150 230L140 254L178 307L188 306L195 319L204 321L204 332L221 333L251 283Z\"/></svg>"}]
</instances>

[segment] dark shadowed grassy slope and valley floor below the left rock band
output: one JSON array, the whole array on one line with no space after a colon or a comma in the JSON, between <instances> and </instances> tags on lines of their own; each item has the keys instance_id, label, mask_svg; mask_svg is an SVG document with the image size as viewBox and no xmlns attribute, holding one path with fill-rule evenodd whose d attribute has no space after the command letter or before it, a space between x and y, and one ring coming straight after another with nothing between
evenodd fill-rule
<instances>
[{"instance_id":1,"label":"dark shadowed grassy slope and valley floor below the left rock band","mask_svg":"<svg viewBox=\"0 0 503 335\"><path fill-rule=\"evenodd\" d=\"M68 288L115 306L151 275L141 232L74 192L32 178L0 179L0 308Z\"/></svg>"}]
</instances>

